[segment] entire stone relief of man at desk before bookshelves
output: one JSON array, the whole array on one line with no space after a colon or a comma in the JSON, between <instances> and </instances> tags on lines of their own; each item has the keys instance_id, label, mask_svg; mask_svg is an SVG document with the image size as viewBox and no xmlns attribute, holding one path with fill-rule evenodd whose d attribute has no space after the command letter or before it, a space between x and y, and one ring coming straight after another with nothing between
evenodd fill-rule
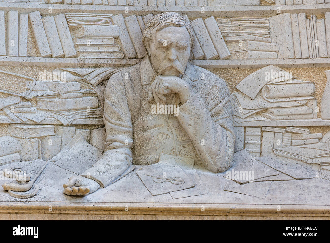
<instances>
[{"instance_id":1,"label":"entire stone relief of man at desk before bookshelves","mask_svg":"<svg viewBox=\"0 0 330 243\"><path fill-rule=\"evenodd\" d=\"M0 1L0 211L328 207L323 5L29 2Z\"/></svg>"}]
</instances>

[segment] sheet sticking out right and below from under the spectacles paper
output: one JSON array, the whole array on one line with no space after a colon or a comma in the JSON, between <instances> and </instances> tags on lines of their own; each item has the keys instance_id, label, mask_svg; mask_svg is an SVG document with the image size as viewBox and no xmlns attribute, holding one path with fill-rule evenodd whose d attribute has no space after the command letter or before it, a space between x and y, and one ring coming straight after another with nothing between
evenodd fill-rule
<instances>
[{"instance_id":1,"label":"sheet sticking out right and below from under the spectacles paper","mask_svg":"<svg viewBox=\"0 0 330 243\"><path fill-rule=\"evenodd\" d=\"M192 196L199 196L208 193L208 190L201 182L199 175L197 174L196 170L184 170L184 173L187 174L190 178L192 178L195 182L195 186L192 188L188 188L181 191L172 191L170 195L173 199L182 198L182 197L192 197Z\"/></svg>"}]
</instances>

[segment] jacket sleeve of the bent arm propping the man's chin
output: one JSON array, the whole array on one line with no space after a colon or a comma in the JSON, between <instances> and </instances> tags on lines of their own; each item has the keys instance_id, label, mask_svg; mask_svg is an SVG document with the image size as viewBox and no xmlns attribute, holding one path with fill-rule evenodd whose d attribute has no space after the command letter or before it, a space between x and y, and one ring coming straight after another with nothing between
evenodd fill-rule
<instances>
[{"instance_id":1,"label":"jacket sleeve of the bent arm propping the man's chin","mask_svg":"<svg viewBox=\"0 0 330 243\"><path fill-rule=\"evenodd\" d=\"M179 107L178 119L190 137L204 166L223 172L232 166L235 135L230 94L224 80L206 90L205 101L198 93Z\"/></svg>"}]
</instances>

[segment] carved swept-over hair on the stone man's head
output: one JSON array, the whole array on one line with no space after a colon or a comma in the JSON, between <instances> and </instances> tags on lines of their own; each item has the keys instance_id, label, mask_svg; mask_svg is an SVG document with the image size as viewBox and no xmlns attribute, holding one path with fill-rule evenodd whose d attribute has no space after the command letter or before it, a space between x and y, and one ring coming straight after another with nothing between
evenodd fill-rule
<instances>
[{"instance_id":1,"label":"carved swept-over hair on the stone man's head","mask_svg":"<svg viewBox=\"0 0 330 243\"><path fill-rule=\"evenodd\" d=\"M147 39L151 40L151 32L152 30L156 29L156 31L162 30L166 27L175 26L175 27L182 27L185 26L187 29L189 36L190 36L190 47L192 48L194 36L193 36L193 29L189 22L186 19L177 13L174 12L166 12L162 14L155 15L151 17L146 24L146 28L143 32L142 41L144 46L146 46Z\"/></svg>"}]
</instances>

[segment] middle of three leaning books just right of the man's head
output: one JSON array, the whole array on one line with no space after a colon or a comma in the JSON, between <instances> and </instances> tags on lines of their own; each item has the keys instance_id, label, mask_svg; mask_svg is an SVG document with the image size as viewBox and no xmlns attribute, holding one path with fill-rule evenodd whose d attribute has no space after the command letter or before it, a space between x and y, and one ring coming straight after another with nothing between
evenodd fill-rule
<instances>
[{"instance_id":1,"label":"middle of three leaning books just right of the man's head","mask_svg":"<svg viewBox=\"0 0 330 243\"><path fill-rule=\"evenodd\" d=\"M202 18L198 18L194 21L191 21L191 25L197 36L198 42L201 43L201 47L205 54L206 59L208 60L217 59L219 56L215 50L211 37L205 27Z\"/></svg>"}]
</instances>

